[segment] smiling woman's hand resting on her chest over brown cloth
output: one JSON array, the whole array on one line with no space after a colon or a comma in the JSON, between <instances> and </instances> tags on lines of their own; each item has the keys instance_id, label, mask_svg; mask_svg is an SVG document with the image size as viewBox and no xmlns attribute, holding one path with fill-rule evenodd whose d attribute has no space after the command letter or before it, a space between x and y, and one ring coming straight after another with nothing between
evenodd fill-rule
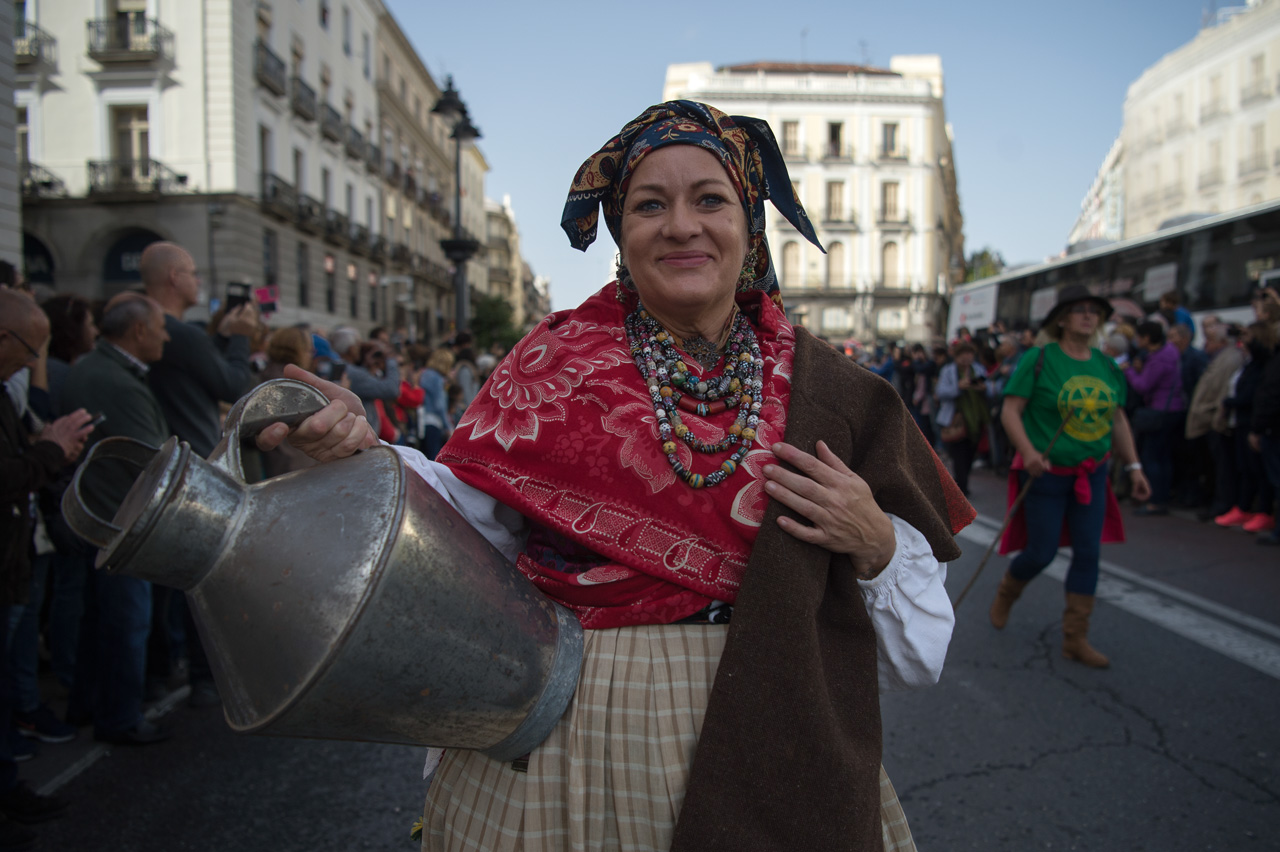
<instances>
[{"instance_id":1,"label":"smiling woman's hand resting on her chest over brown cloth","mask_svg":"<svg viewBox=\"0 0 1280 852\"><path fill-rule=\"evenodd\" d=\"M818 441L817 457L783 443L771 449L799 473L778 464L765 466L765 491L812 525L780 517L778 526L801 541L849 554L859 580L879 574L893 558L897 537L893 522L876 503L867 481L850 471L824 441Z\"/></svg>"}]
</instances>

